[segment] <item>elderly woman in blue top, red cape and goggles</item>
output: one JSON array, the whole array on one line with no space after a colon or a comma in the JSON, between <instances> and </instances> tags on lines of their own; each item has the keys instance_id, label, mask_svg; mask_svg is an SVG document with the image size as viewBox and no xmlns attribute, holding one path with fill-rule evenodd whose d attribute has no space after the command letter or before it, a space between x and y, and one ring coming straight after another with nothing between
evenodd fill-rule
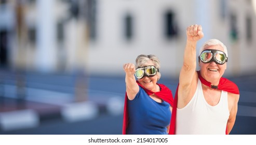
<instances>
[{"instance_id":1,"label":"elderly woman in blue top, red cape and goggles","mask_svg":"<svg viewBox=\"0 0 256 145\"><path fill-rule=\"evenodd\" d=\"M136 65L123 66L126 76L123 134L168 134L173 97L158 84L160 62L155 55L139 55ZM136 78L138 80L136 80Z\"/></svg>"}]
</instances>

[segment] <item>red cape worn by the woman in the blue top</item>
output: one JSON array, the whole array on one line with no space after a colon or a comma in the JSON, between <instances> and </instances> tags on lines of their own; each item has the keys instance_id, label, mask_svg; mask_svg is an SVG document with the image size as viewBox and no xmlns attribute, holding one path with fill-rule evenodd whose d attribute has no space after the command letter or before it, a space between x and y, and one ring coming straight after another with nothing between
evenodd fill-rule
<instances>
[{"instance_id":1,"label":"red cape worn by the woman in the blue top","mask_svg":"<svg viewBox=\"0 0 256 145\"><path fill-rule=\"evenodd\" d=\"M160 86L160 92L152 92L150 90L145 89L138 81L136 81L141 88L145 90L147 95L155 94L167 103L169 103L171 106L173 106L173 97L171 90L167 88L164 84L158 84ZM126 134L126 128L128 126L128 108L127 108L127 93L125 93L125 105L124 105L124 120L123 120L123 135ZM170 132L169 132L170 134Z\"/></svg>"}]
</instances>

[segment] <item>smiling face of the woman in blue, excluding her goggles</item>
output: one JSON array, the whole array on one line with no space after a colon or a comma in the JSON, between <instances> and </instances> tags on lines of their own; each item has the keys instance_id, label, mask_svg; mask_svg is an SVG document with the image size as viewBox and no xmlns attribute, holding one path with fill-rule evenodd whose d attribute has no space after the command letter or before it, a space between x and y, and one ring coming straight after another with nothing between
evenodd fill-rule
<instances>
[{"instance_id":1,"label":"smiling face of the woman in blue, excluding her goggles","mask_svg":"<svg viewBox=\"0 0 256 145\"><path fill-rule=\"evenodd\" d=\"M144 66L154 65L152 61L147 62ZM156 82L158 80L158 72L154 77L144 76L142 79L138 79L139 83L144 86L147 90L151 90L153 92L157 92Z\"/></svg>"}]
</instances>

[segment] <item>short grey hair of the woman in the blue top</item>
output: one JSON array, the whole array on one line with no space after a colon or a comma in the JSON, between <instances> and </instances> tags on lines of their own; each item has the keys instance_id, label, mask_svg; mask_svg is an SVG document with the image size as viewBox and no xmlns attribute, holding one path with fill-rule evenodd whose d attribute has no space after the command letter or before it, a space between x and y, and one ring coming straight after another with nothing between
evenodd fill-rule
<instances>
[{"instance_id":1,"label":"short grey hair of the woman in the blue top","mask_svg":"<svg viewBox=\"0 0 256 145\"><path fill-rule=\"evenodd\" d=\"M136 59L135 67L136 68L143 67L149 61L152 61L154 66L156 68L158 68L158 70L160 69L160 61L159 61L158 57L156 55L153 55L153 54L150 54L150 55L144 55L144 54L138 55L137 59ZM158 80L159 80L160 77L161 77L160 72L157 72L157 75L158 75Z\"/></svg>"}]
</instances>

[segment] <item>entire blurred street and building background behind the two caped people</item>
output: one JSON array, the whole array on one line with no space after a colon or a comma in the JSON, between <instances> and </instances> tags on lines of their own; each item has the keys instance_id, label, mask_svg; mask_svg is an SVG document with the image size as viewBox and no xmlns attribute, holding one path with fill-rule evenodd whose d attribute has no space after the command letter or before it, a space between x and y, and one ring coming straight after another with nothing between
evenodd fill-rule
<instances>
[{"instance_id":1,"label":"entire blurred street and building background behind the two caped people","mask_svg":"<svg viewBox=\"0 0 256 145\"><path fill-rule=\"evenodd\" d=\"M192 24L228 49L231 134L256 134L255 0L0 0L0 134L122 134L123 64L157 55L174 95Z\"/></svg>"}]
</instances>

